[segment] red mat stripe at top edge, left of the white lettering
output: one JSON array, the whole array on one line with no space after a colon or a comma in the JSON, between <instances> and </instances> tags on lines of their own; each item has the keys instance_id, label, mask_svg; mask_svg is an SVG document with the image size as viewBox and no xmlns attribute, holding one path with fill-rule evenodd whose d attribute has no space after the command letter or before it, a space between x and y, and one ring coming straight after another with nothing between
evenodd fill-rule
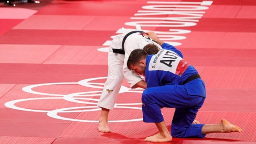
<instances>
[{"instance_id":1,"label":"red mat stripe at top edge, left of the white lettering","mask_svg":"<svg viewBox=\"0 0 256 144\"><path fill-rule=\"evenodd\" d=\"M61 6L59 3L59 1L53 1L52 5L45 6L36 15L132 16L141 9L142 5L147 5L146 0L134 0L132 3L130 1L115 1L114 3L103 1L76 1L76 3L70 3L61 1L61 3L64 3ZM77 9L78 7L85 8Z\"/></svg>"}]
</instances>

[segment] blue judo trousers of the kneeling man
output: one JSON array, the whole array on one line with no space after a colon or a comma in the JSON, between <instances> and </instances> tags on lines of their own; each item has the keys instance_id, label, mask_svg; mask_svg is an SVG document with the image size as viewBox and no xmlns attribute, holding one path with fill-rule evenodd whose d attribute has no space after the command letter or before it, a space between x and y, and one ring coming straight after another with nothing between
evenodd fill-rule
<instances>
[{"instance_id":1,"label":"blue judo trousers of the kneeling man","mask_svg":"<svg viewBox=\"0 0 256 144\"><path fill-rule=\"evenodd\" d=\"M144 90L142 94L142 112L144 122L164 121L160 108L175 108L171 134L177 138L204 138L204 124L192 124L198 109L204 103L204 97L189 95L185 85L165 85Z\"/></svg>"}]
</instances>

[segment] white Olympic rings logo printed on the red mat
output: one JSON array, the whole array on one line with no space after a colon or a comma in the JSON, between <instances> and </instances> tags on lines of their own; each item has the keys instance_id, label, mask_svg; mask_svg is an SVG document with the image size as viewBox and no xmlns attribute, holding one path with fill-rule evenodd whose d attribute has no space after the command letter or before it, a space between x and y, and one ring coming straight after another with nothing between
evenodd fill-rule
<instances>
[{"instance_id":1,"label":"white Olympic rings logo printed on the red mat","mask_svg":"<svg viewBox=\"0 0 256 144\"><path fill-rule=\"evenodd\" d=\"M71 93L67 95L63 94L51 94L51 93L43 93L32 90L33 88L39 87L39 86L47 86L47 85L61 85L61 84L79 84L85 87L90 88L100 88L102 89L103 86L97 86L97 85L104 85L104 83L93 83L90 81L93 80L99 80L99 79L106 79L107 77L96 77L96 78L89 78L84 79L79 82L67 82L67 83L41 83L41 84L33 84L28 85L26 87L23 87L22 90L31 94L36 95L44 95L44 96L53 96L53 97L36 97L36 98L25 98L25 99L17 99L12 100L9 102L6 102L4 105L8 108L21 110L21 111L28 111L28 112L46 112L49 117L55 118L55 119L62 119L62 120L70 120L70 121L78 121L78 122L99 122L98 120L84 120L84 119L71 119L71 118L65 118L58 115L58 113L68 113L68 112L93 112L93 111L100 111L101 108L97 106L97 102L99 99L95 98L86 98L89 96L100 96L102 90L98 91L85 91L85 92L77 92L77 93ZM94 85L93 85L94 84ZM142 93L143 89L136 89L132 90L130 88L127 88L125 86L121 86L121 89L119 93L124 92L135 92L135 93ZM75 103L81 103L81 104L95 104L96 106L80 106L80 107L68 107L68 108L61 108L61 109L55 109L55 110L36 110L36 109L27 109L15 106L16 103L19 102L25 102L25 101L31 101L31 100L44 100L44 99L64 99L66 101L75 102ZM81 101L81 100L90 100L95 102L87 102L87 101ZM141 110L141 107L135 107L135 106L125 106L125 105L141 105L141 103L127 103L127 104L115 104L114 108L126 108L126 109L137 109ZM90 109L86 109L90 108ZM83 110L76 110L76 109L83 109ZM109 120L108 122L131 122L131 121L141 121L140 119L126 119L126 120Z\"/></svg>"}]
</instances>

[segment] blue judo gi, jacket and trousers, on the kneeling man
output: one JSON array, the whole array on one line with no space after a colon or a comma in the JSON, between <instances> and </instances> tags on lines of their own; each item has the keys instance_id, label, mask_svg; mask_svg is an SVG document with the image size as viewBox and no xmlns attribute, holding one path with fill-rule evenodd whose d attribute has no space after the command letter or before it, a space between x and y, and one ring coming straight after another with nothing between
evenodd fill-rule
<instances>
[{"instance_id":1,"label":"blue judo gi, jacket and trousers, on the kneeling man","mask_svg":"<svg viewBox=\"0 0 256 144\"><path fill-rule=\"evenodd\" d=\"M204 138L204 124L192 124L206 97L204 82L196 78L183 84L189 76L198 72L182 59L183 55L178 49L167 43L162 47L157 54L146 58L147 89L142 94L143 121L162 122L164 118L160 108L175 108L172 136Z\"/></svg>"}]
</instances>

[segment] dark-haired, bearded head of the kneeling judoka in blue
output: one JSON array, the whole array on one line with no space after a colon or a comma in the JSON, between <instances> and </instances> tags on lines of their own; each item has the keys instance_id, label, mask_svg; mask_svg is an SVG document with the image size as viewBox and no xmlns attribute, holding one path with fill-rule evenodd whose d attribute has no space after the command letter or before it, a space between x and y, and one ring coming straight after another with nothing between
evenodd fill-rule
<instances>
[{"instance_id":1,"label":"dark-haired, bearded head of the kneeling judoka in blue","mask_svg":"<svg viewBox=\"0 0 256 144\"><path fill-rule=\"evenodd\" d=\"M147 52L135 49L129 56L127 67L138 75L145 75Z\"/></svg>"}]
</instances>

